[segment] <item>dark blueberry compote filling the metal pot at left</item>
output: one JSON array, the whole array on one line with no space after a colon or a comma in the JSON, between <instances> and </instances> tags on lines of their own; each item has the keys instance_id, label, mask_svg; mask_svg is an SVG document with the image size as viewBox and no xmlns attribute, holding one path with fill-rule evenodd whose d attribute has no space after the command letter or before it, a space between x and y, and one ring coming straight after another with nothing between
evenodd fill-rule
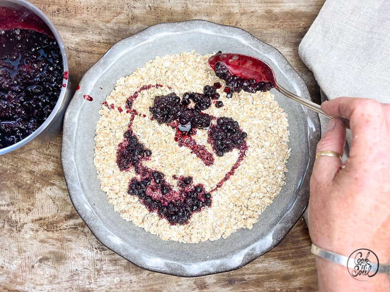
<instances>
[{"instance_id":1,"label":"dark blueberry compote filling the metal pot at left","mask_svg":"<svg viewBox=\"0 0 390 292\"><path fill-rule=\"evenodd\" d=\"M27 29L0 30L0 148L32 134L50 115L63 80L52 37Z\"/></svg>"}]
</instances>

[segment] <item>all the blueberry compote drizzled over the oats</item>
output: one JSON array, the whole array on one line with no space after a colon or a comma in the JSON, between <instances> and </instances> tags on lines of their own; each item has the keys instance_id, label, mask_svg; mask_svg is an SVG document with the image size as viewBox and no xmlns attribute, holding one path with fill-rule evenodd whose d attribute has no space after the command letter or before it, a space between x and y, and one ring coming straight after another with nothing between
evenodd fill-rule
<instances>
[{"instance_id":1,"label":"all the blueberry compote drizzled over the oats","mask_svg":"<svg viewBox=\"0 0 390 292\"><path fill-rule=\"evenodd\" d=\"M214 156L205 146L195 142L193 136L198 129L209 129L207 141L212 145L217 156L221 157L233 148L240 150L236 163L211 191L207 191L202 184L195 184L191 176L174 176L177 182L174 187L165 180L162 172L143 165L143 161L148 160L153 153L138 141L132 130L135 115L140 115L132 109L133 102L140 91L152 87L157 88L161 85L142 86L126 101L127 112L131 114L131 118L128 129L123 135L123 142L117 147L117 165L122 171L133 169L136 172L137 177L129 182L128 193L137 196L149 212L156 212L160 218L168 220L170 224L185 224L194 212L211 206L211 193L234 174L248 148L245 141L246 133L232 118L216 118L203 112L212 105L213 100L219 99L216 89L221 87L220 83L205 86L203 93L186 92L181 98L175 92L155 96L154 104L149 109L152 118L159 124L174 128L176 143L191 149L191 152L206 166L214 163ZM212 120L216 120L215 125L212 124ZM181 130L180 125L189 128Z\"/></svg>"}]
</instances>

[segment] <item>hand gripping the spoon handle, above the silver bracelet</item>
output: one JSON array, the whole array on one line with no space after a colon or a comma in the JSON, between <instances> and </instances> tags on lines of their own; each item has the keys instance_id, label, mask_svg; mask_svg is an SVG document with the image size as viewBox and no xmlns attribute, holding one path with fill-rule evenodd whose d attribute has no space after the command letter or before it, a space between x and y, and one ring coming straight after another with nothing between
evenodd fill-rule
<instances>
[{"instance_id":1,"label":"hand gripping the spoon handle, above the silver bracelet","mask_svg":"<svg viewBox=\"0 0 390 292\"><path fill-rule=\"evenodd\" d=\"M350 119L353 138L350 156L344 164L329 156L320 156L314 163L308 210L312 242L344 256L367 248L378 256L381 264L387 264L390 262L390 105L341 97L324 102L321 108L331 116ZM317 152L331 150L342 154L345 136L342 121L332 119ZM322 259L317 259L318 262L328 268L337 265L324 263Z\"/></svg>"}]
</instances>

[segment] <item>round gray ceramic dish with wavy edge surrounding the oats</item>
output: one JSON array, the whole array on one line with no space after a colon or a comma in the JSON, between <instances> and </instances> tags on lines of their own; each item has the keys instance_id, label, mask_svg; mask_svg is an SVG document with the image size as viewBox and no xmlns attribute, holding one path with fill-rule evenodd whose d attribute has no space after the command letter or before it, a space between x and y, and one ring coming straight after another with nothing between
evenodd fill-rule
<instances>
[{"instance_id":1,"label":"round gray ceramic dish with wavy edge surrounding the oats","mask_svg":"<svg viewBox=\"0 0 390 292\"><path fill-rule=\"evenodd\" d=\"M184 244L161 240L122 219L100 190L93 163L99 104L114 89L118 78L131 74L156 55L191 50L261 58L271 65L283 87L310 99L304 81L283 55L239 28L203 20L157 24L119 41L85 73L65 114L61 153L70 198L94 235L141 268L178 276L231 271L276 246L307 206L315 146L320 137L318 115L273 90L288 114L292 156L287 164L286 185L252 230L238 230L227 239ZM90 95L93 101L84 99L84 95Z\"/></svg>"}]
</instances>

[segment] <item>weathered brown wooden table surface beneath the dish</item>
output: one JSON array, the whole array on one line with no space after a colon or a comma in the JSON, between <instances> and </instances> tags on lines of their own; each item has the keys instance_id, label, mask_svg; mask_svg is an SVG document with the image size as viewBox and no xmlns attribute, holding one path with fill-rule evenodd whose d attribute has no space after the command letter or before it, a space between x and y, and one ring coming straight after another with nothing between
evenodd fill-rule
<instances>
[{"instance_id":1,"label":"weathered brown wooden table surface beneath the dish","mask_svg":"<svg viewBox=\"0 0 390 292\"><path fill-rule=\"evenodd\" d=\"M324 0L32 0L75 60L75 83L114 43L161 22L204 19L242 28L277 48L318 86L298 45ZM1 20L0 20L1 21ZM64 181L62 135L40 149L0 156L0 291L316 291L310 238L300 219L245 267L181 278L138 268L103 246L80 219Z\"/></svg>"}]
</instances>

